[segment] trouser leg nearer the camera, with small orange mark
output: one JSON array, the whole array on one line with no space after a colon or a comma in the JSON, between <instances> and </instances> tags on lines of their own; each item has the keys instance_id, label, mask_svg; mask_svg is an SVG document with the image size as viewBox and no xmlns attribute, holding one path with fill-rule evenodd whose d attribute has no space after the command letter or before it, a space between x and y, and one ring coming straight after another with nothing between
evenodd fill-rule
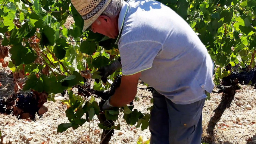
<instances>
[{"instance_id":1,"label":"trouser leg nearer the camera, with small orange mark","mask_svg":"<svg viewBox=\"0 0 256 144\"><path fill-rule=\"evenodd\" d=\"M170 144L200 144L204 100L192 104L174 104L167 99Z\"/></svg>"}]
</instances>

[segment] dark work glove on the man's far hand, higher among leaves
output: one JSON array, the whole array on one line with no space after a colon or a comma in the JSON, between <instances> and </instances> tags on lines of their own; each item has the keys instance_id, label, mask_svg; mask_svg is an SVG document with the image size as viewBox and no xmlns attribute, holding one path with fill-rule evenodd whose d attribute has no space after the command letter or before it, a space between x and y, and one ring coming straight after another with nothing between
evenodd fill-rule
<instances>
[{"instance_id":1,"label":"dark work glove on the man's far hand, higher among leaves","mask_svg":"<svg viewBox=\"0 0 256 144\"><path fill-rule=\"evenodd\" d=\"M100 67L97 72L100 72L99 75L102 76L102 78L100 78L102 82L106 83L107 77L112 75L118 68L122 68L120 57L119 59L112 62L110 65ZM95 79L97 84L100 82L100 79Z\"/></svg>"}]
</instances>

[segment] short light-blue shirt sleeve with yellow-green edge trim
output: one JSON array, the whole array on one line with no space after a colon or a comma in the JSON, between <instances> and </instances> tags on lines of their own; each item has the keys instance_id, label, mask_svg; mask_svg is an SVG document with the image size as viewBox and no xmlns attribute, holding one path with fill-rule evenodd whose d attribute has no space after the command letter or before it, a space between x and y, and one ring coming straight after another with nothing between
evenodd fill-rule
<instances>
[{"instance_id":1,"label":"short light-blue shirt sleeve with yellow-green edge trim","mask_svg":"<svg viewBox=\"0 0 256 144\"><path fill-rule=\"evenodd\" d=\"M119 47L122 74L133 75L150 69L163 46L155 41L135 41Z\"/></svg>"}]
</instances>

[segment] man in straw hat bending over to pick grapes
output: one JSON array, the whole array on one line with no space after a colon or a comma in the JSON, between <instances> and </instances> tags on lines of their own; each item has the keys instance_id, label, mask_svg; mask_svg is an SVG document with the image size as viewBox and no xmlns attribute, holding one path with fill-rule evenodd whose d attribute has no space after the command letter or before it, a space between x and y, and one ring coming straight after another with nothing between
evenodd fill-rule
<instances>
[{"instance_id":1,"label":"man in straw hat bending over to pick grapes","mask_svg":"<svg viewBox=\"0 0 256 144\"><path fill-rule=\"evenodd\" d=\"M117 38L121 63L101 68L103 77L122 67L122 80L104 109L122 107L141 78L155 90L150 144L200 144L202 109L211 92L213 62L193 29L153 0L71 0L84 30Z\"/></svg>"}]
</instances>

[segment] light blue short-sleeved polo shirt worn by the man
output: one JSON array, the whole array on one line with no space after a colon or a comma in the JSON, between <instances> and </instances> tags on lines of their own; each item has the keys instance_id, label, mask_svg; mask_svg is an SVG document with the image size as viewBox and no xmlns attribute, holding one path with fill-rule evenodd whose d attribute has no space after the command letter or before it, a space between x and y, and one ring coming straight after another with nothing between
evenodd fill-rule
<instances>
[{"instance_id":1,"label":"light blue short-sleeved polo shirt worn by the man","mask_svg":"<svg viewBox=\"0 0 256 144\"><path fill-rule=\"evenodd\" d=\"M122 73L142 71L144 82L177 104L205 98L214 87L213 63L193 29L157 1L127 3L119 40Z\"/></svg>"}]
</instances>

